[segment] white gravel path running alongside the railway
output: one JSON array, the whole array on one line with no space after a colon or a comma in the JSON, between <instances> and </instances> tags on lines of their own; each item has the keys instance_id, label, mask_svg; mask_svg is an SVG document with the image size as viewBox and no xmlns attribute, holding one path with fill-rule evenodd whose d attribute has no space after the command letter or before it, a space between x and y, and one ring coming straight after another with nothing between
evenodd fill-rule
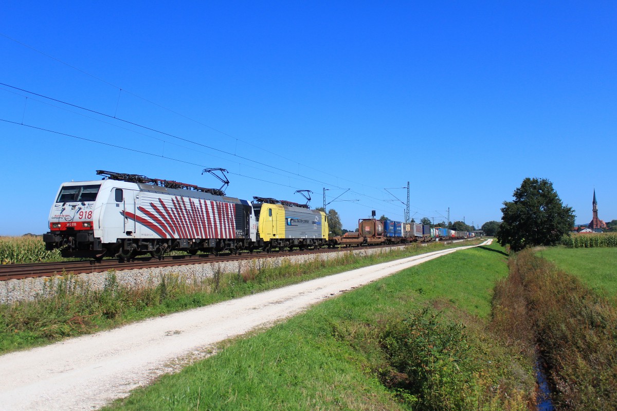
<instances>
[{"instance_id":1,"label":"white gravel path running alongside the railway","mask_svg":"<svg viewBox=\"0 0 617 411\"><path fill-rule=\"evenodd\" d=\"M487 240L480 245L490 244ZM164 373L202 359L216 344L270 327L325 298L463 246L265 291L0 356L3 410L91 410Z\"/></svg>"}]
</instances>

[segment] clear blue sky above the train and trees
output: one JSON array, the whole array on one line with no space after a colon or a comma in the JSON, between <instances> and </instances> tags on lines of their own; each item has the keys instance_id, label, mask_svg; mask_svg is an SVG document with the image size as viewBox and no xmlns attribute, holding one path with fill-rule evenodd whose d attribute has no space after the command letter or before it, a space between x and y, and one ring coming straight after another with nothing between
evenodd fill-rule
<instances>
[{"instance_id":1,"label":"clear blue sky above the train and trees","mask_svg":"<svg viewBox=\"0 0 617 411\"><path fill-rule=\"evenodd\" d=\"M578 223L595 187L617 219L615 2L260 3L3 5L0 235L46 232L96 169L218 188L222 167L228 195L312 206L350 189L328 205L347 229L402 220L383 189L407 181L416 221L499 221L525 177Z\"/></svg>"}]
</instances>

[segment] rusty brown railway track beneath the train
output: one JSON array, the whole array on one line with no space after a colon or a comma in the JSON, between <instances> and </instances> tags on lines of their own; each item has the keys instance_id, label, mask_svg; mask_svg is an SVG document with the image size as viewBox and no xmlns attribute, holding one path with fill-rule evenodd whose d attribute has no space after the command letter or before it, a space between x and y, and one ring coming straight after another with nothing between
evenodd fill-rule
<instances>
[{"instance_id":1,"label":"rusty brown railway track beneath the train","mask_svg":"<svg viewBox=\"0 0 617 411\"><path fill-rule=\"evenodd\" d=\"M400 246L384 245L381 247ZM354 247L354 250L362 250L368 247ZM376 248L371 246L370 248ZM88 260L88 261L61 261L61 262L38 262L35 264L10 264L6 266L0 266L0 281L6 280L20 280L36 277L51 277L53 275L62 274L84 274L88 272L106 272L111 269L116 271L132 270L132 269L147 269L157 267L170 267L170 266L186 266L191 264L208 264L210 262L225 262L225 261L238 261L249 260L257 258L275 258L280 256L290 255L305 255L305 254L319 254L319 253L336 253L340 251L340 248L328 249L320 248L317 250L303 250L303 251L286 251L286 252L255 252L255 253L240 253L240 254L219 254L213 256L212 254L197 254L195 256L165 256L161 259L152 257L139 257L133 258L128 261L118 261L117 259L103 259L101 261Z\"/></svg>"}]
</instances>

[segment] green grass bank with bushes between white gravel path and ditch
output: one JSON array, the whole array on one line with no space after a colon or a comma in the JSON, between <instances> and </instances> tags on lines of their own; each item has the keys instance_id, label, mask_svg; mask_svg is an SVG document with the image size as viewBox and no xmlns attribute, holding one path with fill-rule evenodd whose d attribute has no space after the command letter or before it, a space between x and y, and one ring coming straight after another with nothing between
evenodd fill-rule
<instances>
[{"instance_id":1,"label":"green grass bank with bushes between white gravel path and ditch","mask_svg":"<svg viewBox=\"0 0 617 411\"><path fill-rule=\"evenodd\" d=\"M531 357L491 332L497 245L318 304L109 409L526 410Z\"/></svg>"}]
</instances>

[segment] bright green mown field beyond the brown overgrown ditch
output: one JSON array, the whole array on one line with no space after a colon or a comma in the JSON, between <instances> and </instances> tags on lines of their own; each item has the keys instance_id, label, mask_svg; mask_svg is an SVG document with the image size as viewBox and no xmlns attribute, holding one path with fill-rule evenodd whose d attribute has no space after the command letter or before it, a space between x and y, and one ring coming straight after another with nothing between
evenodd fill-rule
<instances>
[{"instance_id":1,"label":"bright green mown field beyond the brown overgrown ditch","mask_svg":"<svg viewBox=\"0 0 617 411\"><path fill-rule=\"evenodd\" d=\"M609 297L617 296L617 248L548 247L537 255L552 261L587 287Z\"/></svg>"}]
</instances>

